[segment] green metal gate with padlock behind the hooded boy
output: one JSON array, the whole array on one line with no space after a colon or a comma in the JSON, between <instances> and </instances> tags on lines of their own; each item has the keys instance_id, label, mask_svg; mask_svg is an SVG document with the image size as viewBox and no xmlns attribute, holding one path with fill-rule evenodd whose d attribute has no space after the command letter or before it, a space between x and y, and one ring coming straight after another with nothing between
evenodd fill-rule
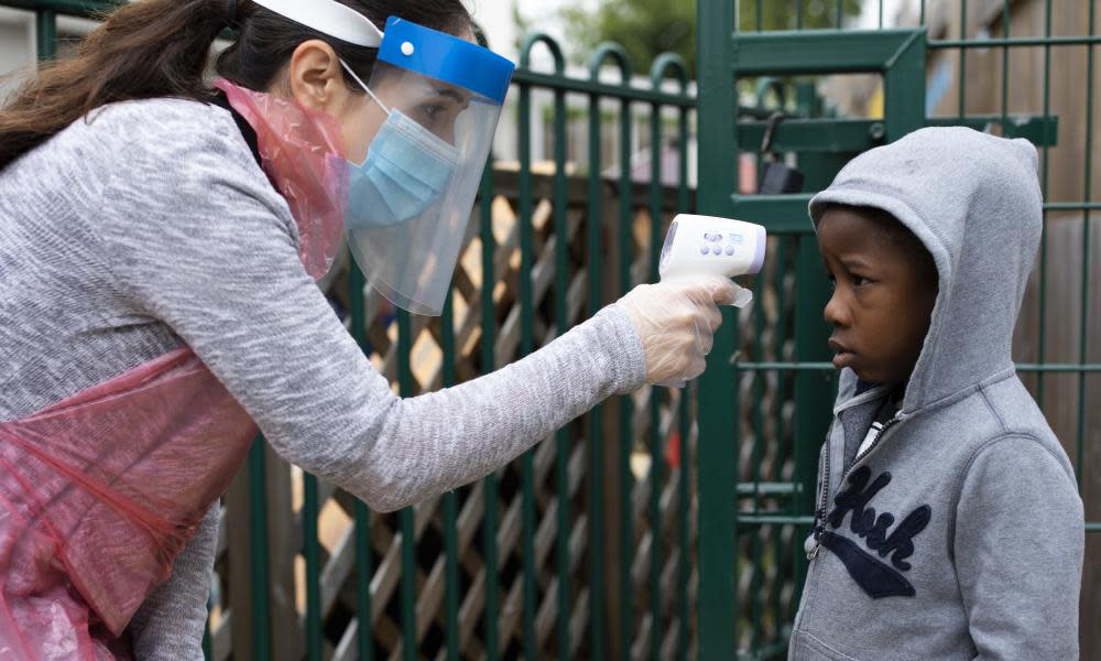
<instances>
[{"instance_id":1,"label":"green metal gate with padlock behind the hooded boy","mask_svg":"<svg viewBox=\"0 0 1101 661\"><path fill-rule=\"evenodd\" d=\"M1087 501L1087 531L1097 532L1101 524L1098 513L1097 449L1101 437L1097 433L1101 420L1088 416L1097 410L1098 350L1088 343L1098 336L1101 323L1097 318L1097 237L1091 234L1092 149L1094 137L1092 102L1095 83L1093 46L1094 2L1076 3L1080 14L1072 26L1064 25L1066 34L1053 32L1053 2L1016 2L1042 12L1042 34L1011 36L1012 19L1000 21L1001 36L994 37L974 29L977 4L990 14L1011 17L1011 3L974 2L969 11L967 0L952 6L950 18L959 18L959 37L949 39L928 33L926 2L915 7L907 29L884 29L883 2L879 3L879 29L842 29L842 2L837 2L837 25L833 30L803 30L804 0L787 2L791 22L783 30L764 31L761 25L761 0L700 0L698 4L699 124L700 173L698 206L701 213L729 215L764 223L773 237L771 263L755 283L757 301L767 293L773 302L759 306L751 319L726 323L716 339L716 350L708 370L700 379L700 464L699 464L699 572L700 572L700 646L705 659L728 659L737 649L740 658L782 658L786 653L791 621L798 606L806 571L802 540L813 523L813 492L816 462L831 419L836 393L836 371L829 362L826 338L829 329L822 322L822 306L829 286L820 266L814 235L807 217L810 194L763 196L739 195L737 173L739 154L754 152L761 143L763 122L742 113L737 107L738 82L759 80L759 88L794 87L799 101L788 101L785 119L775 130L773 150L791 154L807 175L805 191L827 186L843 164L853 155L876 144L897 140L923 126L963 124L983 130L992 128L1007 137L1022 137L1042 148L1045 205L1045 240L1037 263L1037 274L1031 290L1033 303L1026 302L1022 315L1015 354L1018 370L1032 392L1053 419L1071 394L1076 402L1069 416L1064 411L1058 420L1069 418L1069 425L1053 426L1064 441L1075 463L1079 484ZM865 9L869 3L865 3ZM875 3L871 3L874 8ZM915 3L916 4L916 3ZM1070 3L1066 3L1069 6ZM1064 11L1068 8L1060 4ZM738 32L737 12L754 11L754 32ZM1035 12L1033 12L1035 13ZM969 19L972 29L969 30ZM950 23L951 21L941 21ZM998 23L998 21L994 21ZM1070 21L1062 21L1064 23ZM775 26L774 26L775 28ZM945 32L942 25L936 26ZM1083 34L1087 32L1088 34ZM1042 63L1043 75L1025 93L1016 94L1011 105L1011 54L1014 48L1035 48L1033 57ZM1071 104L1053 104L1053 52L1058 48L1083 51L1084 65L1076 85L1086 90L1083 136L1073 152L1080 163L1079 186L1073 193L1060 191L1053 199L1049 170L1055 158L1057 115L1071 112ZM968 104L968 54L974 51L991 59L996 50L1001 59L1000 99L993 107L982 102ZM953 112L942 109L927 117L927 85L942 94L947 56L958 61L958 107ZM1057 55L1056 55L1057 56ZM927 75L927 63L941 66L934 76ZM994 61L996 64L996 61ZM1014 61L1020 65L1020 61ZM984 63L985 64L985 63ZM1035 63L1033 63L1035 66ZM832 74L870 73L881 77L883 89L882 119L824 118L813 90L814 80ZM939 78L938 78L939 76ZM771 77L771 78L764 78ZM808 80L809 78L809 80ZM973 76L971 84L974 85ZM1034 87L1036 89L1034 89ZM1042 90L1042 94L1040 91ZM783 104L783 95L781 95ZM1000 104L998 102L1000 101ZM937 105L930 102L930 106ZM939 107L944 108L940 102ZM1000 107L999 107L1000 106ZM1011 108L1012 106L1012 108ZM1011 111L1012 109L1012 111ZM1079 111L1078 117L1081 117ZM1066 122L1064 122L1064 134ZM1067 150L1059 152L1066 158ZM1078 218L1056 218L1056 214L1076 213ZM1065 223L1058 226L1057 223ZM1050 338L1056 318L1048 282L1053 258L1048 238L1055 230L1066 230L1077 221L1083 240L1077 246L1062 240L1060 259L1072 258L1077 277L1064 286L1073 286L1067 300L1060 296L1060 310L1077 315L1072 345L1059 346ZM1054 228L1054 229L1053 229ZM1075 227L1069 227L1075 229ZM1062 234L1067 234L1062 231ZM1069 251L1069 252L1068 252ZM1091 271L1092 269L1092 271ZM1091 316L1093 315L1093 316ZM730 319L728 319L730 321ZM1034 333L1034 335L1033 335ZM1047 334L1047 335L1046 335ZM1066 333L1065 333L1066 335ZM1053 347L1062 361L1051 361ZM1062 401L1051 397L1055 378L1073 379L1060 383ZM1045 386L1047 384L1047 386ZM1092 405L1091 405L1092 404ZM734 412L731 415L731 411ZM1091 454L1092 451L1092 454ZM1090 469L1091 462L1093 468ZM1092 488L1090 487L1092 485ZM1090 567L1098 554L1097 540L1088 535L1087 572L1082 602L1082 658L1101 654L1097 640L1101 604L1097 602L1099 576ZM1093 589L1090 586L1094 586Z\"/></svg>"}]
</instances>

